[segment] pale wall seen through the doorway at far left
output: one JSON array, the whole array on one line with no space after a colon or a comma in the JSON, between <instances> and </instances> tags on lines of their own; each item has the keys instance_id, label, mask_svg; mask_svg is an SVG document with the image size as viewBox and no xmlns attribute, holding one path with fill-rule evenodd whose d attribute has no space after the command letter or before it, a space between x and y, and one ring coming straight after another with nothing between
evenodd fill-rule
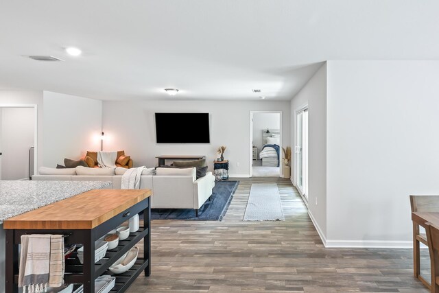
<instances>
[{"instance_id":1,"label":"pale wall seen through the doorway at far left","mask_svg":"<svg viewBox=\"0 0 439 293\"><path fill-rule=\"evenodd\" d=\"M34 146L34 108L0 107L1 180L29 178L29 148ZM34 166L32 166L33 168Z\"/></svg>"}]
</instances>

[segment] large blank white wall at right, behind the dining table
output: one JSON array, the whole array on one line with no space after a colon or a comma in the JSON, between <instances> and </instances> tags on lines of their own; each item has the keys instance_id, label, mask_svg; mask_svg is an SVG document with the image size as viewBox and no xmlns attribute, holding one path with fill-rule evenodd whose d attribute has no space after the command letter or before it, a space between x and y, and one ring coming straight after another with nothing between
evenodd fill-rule
<instances>
[{"instance_id":1,"label":"large blank white wall at right, behind the dining table","mask_svg":"<svg viewBox=\"0 0 439 293\"><path fill-rule=\"evenodd\" d=\"M438 80L438 61L328 62L329 246L412 246L409 195L439 194Z\"/></svg>"}]
</instances>

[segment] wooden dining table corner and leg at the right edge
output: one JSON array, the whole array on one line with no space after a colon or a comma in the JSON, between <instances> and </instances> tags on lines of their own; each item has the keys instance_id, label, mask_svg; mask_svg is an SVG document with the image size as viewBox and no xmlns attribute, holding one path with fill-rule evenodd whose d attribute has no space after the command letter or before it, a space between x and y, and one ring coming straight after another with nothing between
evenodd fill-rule
<instances>
[{"instance_id":1,"label":"wooden dining table corner and leg at the right edge","mask_svg":"<svg viewBox=\"0 0 439 293\"><path fill-rule=\"evenodd\" d=\"M427 228L427 223L439 226L439 212L412 212L413 228L413 272L414 277L419 279L427 288L431 289L431 281L427 281L420 275L420 242L416 239L416 225Z\"/></svg>"}]
</instances>

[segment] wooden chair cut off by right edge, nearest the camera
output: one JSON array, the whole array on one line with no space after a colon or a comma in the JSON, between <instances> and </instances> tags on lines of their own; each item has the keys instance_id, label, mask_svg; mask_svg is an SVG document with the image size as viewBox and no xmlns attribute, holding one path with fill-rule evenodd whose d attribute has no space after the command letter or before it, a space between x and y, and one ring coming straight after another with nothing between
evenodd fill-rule
<instances>
[{"instance_id":1,"label":"wooden chair cut off by right edge, nearest the camera","mask_svg":"<svg viewBox=\"0 0 439 293\"><path fill-rule=\"evenodd\" d=\"M427 241L431 263L431 292L439 293L439 228L427 223Z\"/></svg>"}]
</instances>

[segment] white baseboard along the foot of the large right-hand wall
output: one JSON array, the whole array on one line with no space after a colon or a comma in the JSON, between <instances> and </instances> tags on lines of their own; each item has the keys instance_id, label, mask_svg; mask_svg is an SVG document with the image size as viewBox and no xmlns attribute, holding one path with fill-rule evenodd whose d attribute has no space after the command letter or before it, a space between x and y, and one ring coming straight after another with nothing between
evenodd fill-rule
<instances>
[{"instance_id":1,"label":"white baseboard along the foot of the large right-hand wall","mask_svg":"<svg viewBox=\"0 0 439 293\"><path fill-rule=\"evenodd\" d=\"M412 241L327 240L327 248L413 248Z\"/></svg>"}]
</instances>

